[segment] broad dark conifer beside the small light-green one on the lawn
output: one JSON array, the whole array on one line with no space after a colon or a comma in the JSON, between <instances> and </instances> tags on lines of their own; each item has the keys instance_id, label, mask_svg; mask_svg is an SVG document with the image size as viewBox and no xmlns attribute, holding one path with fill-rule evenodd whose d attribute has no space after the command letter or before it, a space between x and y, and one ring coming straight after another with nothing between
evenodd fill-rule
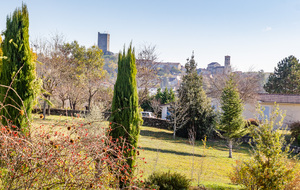
<instances>
[{"instance_id":1,"label":"broad dark conifer beside the small light-green one on the lawn","mask_svg":"<svg viewBox=\"0 0 300 190\"><path fill-rule=\"evenodd\" d=\"M179 106L187 107L186 114L188 120L184 126L177 131L181 137L189 137L189 132L196 133L196 139L202 139L213 129L215 115L213 113L210 100L203 90L202 76L197 74L197 64L192 55L191 60L185 65L186 75L183 76L182 83L178 90Z\"/></svg>"}]
</instances>

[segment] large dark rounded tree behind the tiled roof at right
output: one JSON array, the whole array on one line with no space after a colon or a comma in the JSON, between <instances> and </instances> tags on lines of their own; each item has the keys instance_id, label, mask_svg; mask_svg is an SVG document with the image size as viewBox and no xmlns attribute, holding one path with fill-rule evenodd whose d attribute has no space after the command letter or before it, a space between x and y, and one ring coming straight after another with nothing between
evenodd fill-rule
<instances>
[{"instance_id":1,"label":"large dark rounded tree behind the tiled roof at right","mask_svg":"<svg viewBox=\"0 0 300 190\"><path fill-rule=\"evenodd\" d=\"M294 56L281 60L273 74L264 85L268 93L299 94L300 93L300 63Z\"/></svg>"}]
</instances>

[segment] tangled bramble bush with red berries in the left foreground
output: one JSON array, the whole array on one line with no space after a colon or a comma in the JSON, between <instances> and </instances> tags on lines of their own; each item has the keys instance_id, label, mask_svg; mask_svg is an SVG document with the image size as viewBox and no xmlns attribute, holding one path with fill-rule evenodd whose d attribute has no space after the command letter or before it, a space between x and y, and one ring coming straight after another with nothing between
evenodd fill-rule
<instances>
[{"instance_id":1,"label":"tangled bramble bush with red berries in the left foreground","mask_svg":"<svg viewBox=\"0 0 300 190\"><path fill-rule=\"evenodd\" d=\"M127 172L123 156L130 145L122 138L116 143L107 135L110 128L102 129L100 135L89 134L89 125L40 126L28 136L14 130L15 126L2 126L1 187L106 189L117 188L119 181L134 186L136 177Z\"/></svg>"}]
</instances>

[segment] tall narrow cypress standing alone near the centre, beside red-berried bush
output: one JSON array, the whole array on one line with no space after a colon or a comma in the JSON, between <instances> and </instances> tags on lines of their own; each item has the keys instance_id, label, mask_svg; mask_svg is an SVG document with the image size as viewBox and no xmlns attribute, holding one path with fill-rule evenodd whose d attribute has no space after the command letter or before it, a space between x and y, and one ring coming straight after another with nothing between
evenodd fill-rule
<instances>
[{"instance_id":1,"label":"tall narrow cypress standing alone near the centre, beside red-berried bush","mask_svg":"<svg viewBox=\"0 0 300 190\"><path fill-rule=\"evenodd\" d=\"M119 53L118 75L114 86L114 97L112 102L112 122L113 138L125 138L132 147L128 147L125 156L130 166L128 172L133 172L136 159L136 147L140 134L142 118L138 105L138 93L136 83L136 66L134 49L130 45L127 54L125 49L123 54Z\"/></svg>"}]
</instances>

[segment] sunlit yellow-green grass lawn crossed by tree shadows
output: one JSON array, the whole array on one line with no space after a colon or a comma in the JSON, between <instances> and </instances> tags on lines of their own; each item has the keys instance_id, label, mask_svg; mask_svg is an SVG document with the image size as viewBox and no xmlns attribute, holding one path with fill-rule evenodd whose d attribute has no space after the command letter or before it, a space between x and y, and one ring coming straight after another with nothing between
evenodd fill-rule
<instances>
[{"instance_id":1,"label":"sunlit yellow-green grass lawn crossed by tree shadows","mask_svg":"<svg viewBox=\"0 0 300 190\"><path fill-rule=\"evenodd\" d=\"M82 122L84 120L80 118L50 116L43 120L39 115L34 115L33 128L54 125L65 130L65 123ZM230 184L227 175L236 160L249 158L247 145L234 149L230 159L225 141L208 141L206 147L203 142L197 141L193 147L188 139L173 140L171 131L146 126L141 128L138 145L141 147L139 166L144 171L144 178L154 171L170 170L193 178L194 186L200 184L211 189L239 189Z\"/></svg>"}]
</instances>

